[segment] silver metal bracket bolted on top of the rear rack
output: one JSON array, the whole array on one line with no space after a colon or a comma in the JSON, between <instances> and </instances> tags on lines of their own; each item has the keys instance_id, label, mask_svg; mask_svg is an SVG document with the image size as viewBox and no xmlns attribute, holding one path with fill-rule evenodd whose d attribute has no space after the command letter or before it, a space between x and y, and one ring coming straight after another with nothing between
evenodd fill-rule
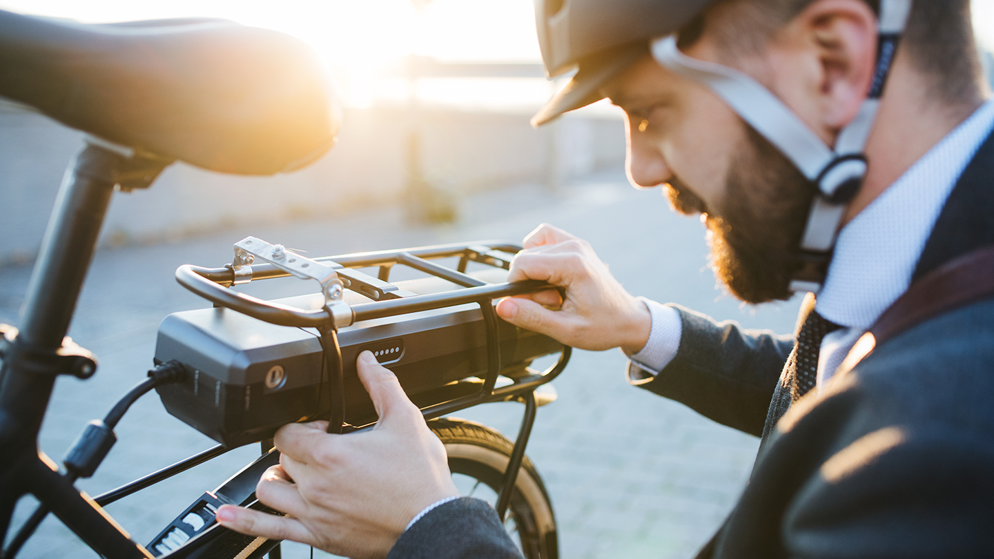
<instances>
[{"instance_id":1,"label":"silver metal bracket bolted on top of the rear rack","mask_svg":"<svg viewBox=\"0 0 994 559\"><path fill-rule=\"evenodd\" d=\"M235 272L236 282L239 282L240 269L246 268L248 280L251 280L251 264L255 259L264 260L301 280L316 280L320 283L324 306L334 319L335 328L348 326L355 321L352 308L345 302L345 287L338 277L337 268L341 268L340 266L334 263L331 263L334 266L329 266L294 253L282 245L271 245L255 237L246 237L235 244L232 270ZM243 273L243 278L244 276Z\"/></svg>"}]
</instances>

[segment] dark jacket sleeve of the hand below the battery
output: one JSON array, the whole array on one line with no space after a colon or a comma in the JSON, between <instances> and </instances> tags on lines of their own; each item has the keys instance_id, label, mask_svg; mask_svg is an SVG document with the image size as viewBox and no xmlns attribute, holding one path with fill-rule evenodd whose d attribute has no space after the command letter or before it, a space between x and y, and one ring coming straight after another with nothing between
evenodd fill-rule
<instances>
[{"instance_id":1,"label":"dark jacket sleeve of the hand below the battery","mask_svg":"<svg viewBox=\"0 0 994 559\"><path fill-rule=\"evenodd\" d=\"M462 497L414 522L387 559L521 559L521 553L486 501Z\"/></svg>"}]
</instances>

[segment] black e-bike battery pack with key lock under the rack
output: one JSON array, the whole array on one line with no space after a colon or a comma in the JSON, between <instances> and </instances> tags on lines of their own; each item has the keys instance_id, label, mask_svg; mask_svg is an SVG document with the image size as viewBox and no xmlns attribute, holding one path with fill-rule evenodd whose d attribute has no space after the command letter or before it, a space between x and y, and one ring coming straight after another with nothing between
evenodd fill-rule
<instances>
[{"instance_id":1,"label":"black e-bike battery pack with key lock under the rack","mask_svg":"<svg viewBox=\"0 0 994 559\"><path fill-rule=\"evenodd\" d=\"M425 279L398 282L415 293L435 292ZM448 283L448 285L451 285ZM362 295L347 291L350 302ZM321 308L320 294L278 299L303 309ZM552 338L498 319L502 374L525 372L541 356L559 352ZM338 331L342 351L345 419L376 420L356 359L370 350L391 369L420 407L452 397L447 385L483 377L487 331L478 304L423 310L357 322ZM288 423L327 419L330 393L320 335L312 328L278 326L228 308L176 312L159 326L155 361L177 360L184 382L156 388L174 417L227 447L271 438Z\"/></svg>"}]
</instances>

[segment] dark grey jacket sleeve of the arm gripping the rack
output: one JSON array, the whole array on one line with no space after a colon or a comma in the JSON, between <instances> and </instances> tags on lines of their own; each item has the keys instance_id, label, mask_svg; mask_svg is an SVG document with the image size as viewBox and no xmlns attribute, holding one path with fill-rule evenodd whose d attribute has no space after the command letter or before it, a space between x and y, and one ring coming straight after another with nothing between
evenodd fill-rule
<instances>
[{"instance_id":1,"label":"dark grey jacket sleeve of the arm gripping the rack","mask_svg":"<svg viewBox=\"0 0 994 559\"><path fill-rule=\"evenodd\" d=\"M628 366L629 381L723 425L762 434L766 412L793 336L745 330L731 321L671 304L680 313L680 347L658 375Z\"/></svg>"}]
</instances>

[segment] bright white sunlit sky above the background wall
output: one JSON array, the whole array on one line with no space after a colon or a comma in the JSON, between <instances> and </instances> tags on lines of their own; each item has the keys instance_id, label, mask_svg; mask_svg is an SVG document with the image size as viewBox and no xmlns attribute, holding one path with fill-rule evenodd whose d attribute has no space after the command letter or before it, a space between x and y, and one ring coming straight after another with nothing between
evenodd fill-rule
<instances>
[{"instance_id":1,"label":"bright white sunlit sky above the background wall","mask_svg":"<svg viewBox=\"0 0 994 559\"><path fill-rule=\"evenodd\" d=\"M933 0L929 0L933 1ZM84 23L221 17L297 36L332 72L345 101L398 101L409 89L381 73L400 57L541 62L532 0L0 0L0 8ZM426 4L426 6L425 6ZM972 0L980 42L994 51L994 0ZM466 107L532 110L552 92L541 79L424 80L420 98Z\"/></svg>"}]
</instances>

